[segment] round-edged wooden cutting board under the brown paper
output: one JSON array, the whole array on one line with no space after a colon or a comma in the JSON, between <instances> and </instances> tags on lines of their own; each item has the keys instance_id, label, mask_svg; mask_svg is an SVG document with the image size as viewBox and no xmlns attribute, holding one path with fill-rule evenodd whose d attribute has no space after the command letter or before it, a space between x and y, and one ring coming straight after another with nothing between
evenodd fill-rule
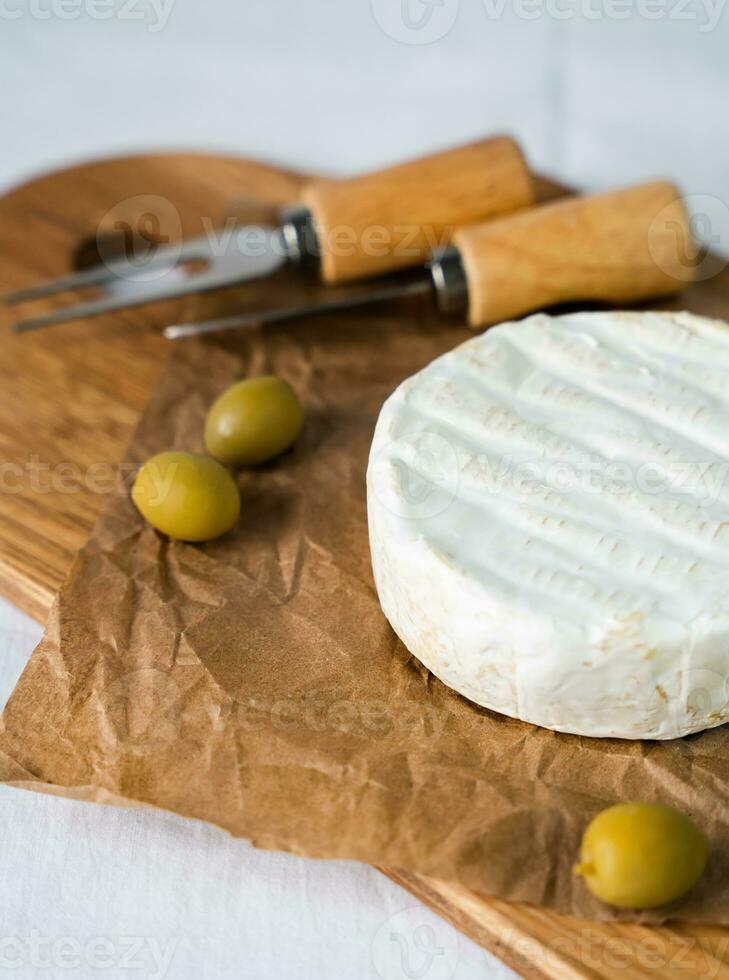
<instances>
[{"instance_id":1,"label":"round-edged wooden cutting board under the brown paper","mask_svg":"<svg viewBox=\"0 0 729 980\"><path fill-rule=\"evenodd\" d=\"M294 201L303 180L197 155L111 160L42 177L0 199L0 292L87 263L99 230L108 248L127 233L200 234L201 216L212 227L231 213L260 218ZM559 193L546 182L540 191ZM144 217L145 209L162 220ZM729 272L717 265L683 304L729 317ZM0 592L40 622L112 492L113 467L169 352L159 327L183 309L158 304L21 337L10 332L10 311L0 311ZM527 978L729 980L729 930L603 925L381 870Z\"/></svg>"}]
</instances>

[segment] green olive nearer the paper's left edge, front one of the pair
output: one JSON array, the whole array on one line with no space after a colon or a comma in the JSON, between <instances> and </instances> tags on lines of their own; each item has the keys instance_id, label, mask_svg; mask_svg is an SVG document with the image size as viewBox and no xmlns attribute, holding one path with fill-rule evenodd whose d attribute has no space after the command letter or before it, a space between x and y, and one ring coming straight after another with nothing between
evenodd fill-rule
<instances>
[{"instance_id":1,"label":"green olive nearer the paper's left edge, front one of the pair","mask_svg":"<svg viewBox=\"0 0 729 980\"><path fill-rule=\"evenodd\" d=\"M224 466L198 453L167 452L147 460L132 500L152 527L180 541L210 541L240 516L240 493Z\"/></svg>"}]
</instances>

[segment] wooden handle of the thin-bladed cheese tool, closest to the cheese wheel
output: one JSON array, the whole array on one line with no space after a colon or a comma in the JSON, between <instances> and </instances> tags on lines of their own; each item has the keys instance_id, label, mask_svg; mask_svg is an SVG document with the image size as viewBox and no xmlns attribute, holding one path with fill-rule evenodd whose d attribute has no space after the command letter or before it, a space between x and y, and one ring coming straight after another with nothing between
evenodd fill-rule
<instances>
[{"instance_id":1,"label":"wooden handle of the thin-bladed cheese tool, closest to the cheese wheel","mask_svg":"<svg viewBox=\"0 0 729 980\"><path fill-rule=\"evenodd\" d=\"M693 278L686 210L665 181L461 228L454 244L468 280L472 327L557 303L670 296Z\"/></svg>"}]
</instances>

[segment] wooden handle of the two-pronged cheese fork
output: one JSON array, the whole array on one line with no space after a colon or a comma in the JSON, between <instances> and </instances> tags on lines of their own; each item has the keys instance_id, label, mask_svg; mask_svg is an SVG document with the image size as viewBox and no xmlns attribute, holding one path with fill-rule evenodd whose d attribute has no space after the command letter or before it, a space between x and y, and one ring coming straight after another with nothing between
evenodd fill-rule
<instances>
[{"instance_id":1,"label":"wooden handle of the two-pronged cheese fork","mask_svg":"<svg viewBox=\"0 0 729 980\"><path fill-rule=\"evenodd\" d=\"M304 192L325 282L346 282L418 265L462 224L533 202L516 143L496 137Z\"/></svg>"}]
</instances>

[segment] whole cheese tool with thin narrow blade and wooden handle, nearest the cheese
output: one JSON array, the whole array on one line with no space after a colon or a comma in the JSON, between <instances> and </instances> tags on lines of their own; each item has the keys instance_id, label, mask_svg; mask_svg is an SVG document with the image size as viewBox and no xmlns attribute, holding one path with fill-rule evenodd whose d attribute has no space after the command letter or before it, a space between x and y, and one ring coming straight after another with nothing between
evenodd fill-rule
<instances>
[{"instance_id":1,"label":"whole cheese tool with thin narrow blade and wooden handle, nearest the cheese","mask_svg":"<svg viewBox=\"0 0 729 980\"><path fill-rule=\"evenodd\" d=\"M688 215L666 181L544 204L459 228L407 282L289 309L263 310L165 329L170 340L259 327L414 295L484 327L559 303L617 304L671 296L693 278Z\"/></svg>"}]
</instances>

